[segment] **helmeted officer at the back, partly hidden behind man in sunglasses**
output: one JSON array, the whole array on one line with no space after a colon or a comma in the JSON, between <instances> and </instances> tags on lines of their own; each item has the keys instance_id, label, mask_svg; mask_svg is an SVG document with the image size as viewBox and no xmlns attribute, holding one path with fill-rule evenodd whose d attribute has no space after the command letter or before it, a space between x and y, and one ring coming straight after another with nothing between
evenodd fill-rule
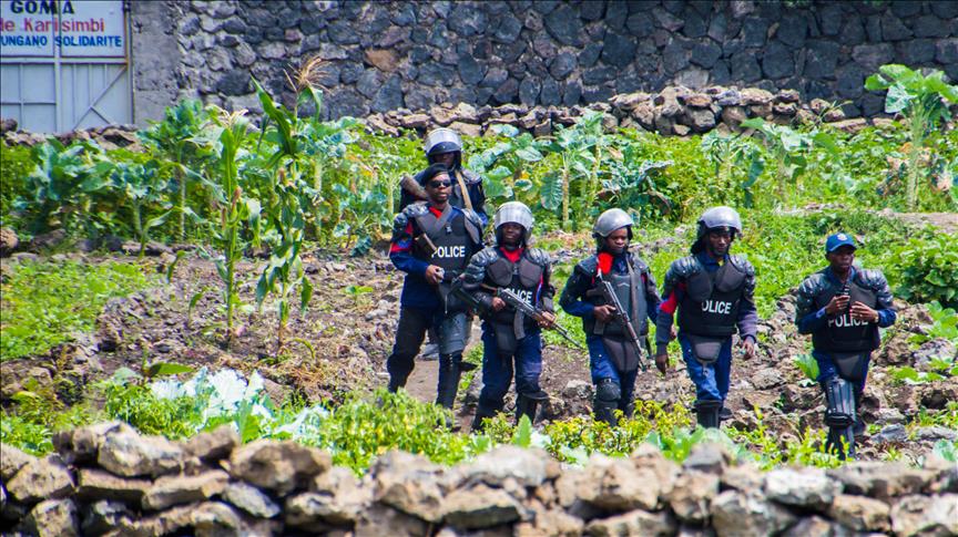
<instances>
[{"instance_id":1,"label":"helmeted officer at the back, partly hidden behind man in sunglasses","mask_svg":"<svg viewBox=\"0 0 958 537\"><path fill-rule=\"evenodd\" d=\"M459 134L450 128L436 128L426 135L424 148L430 165L444 164L449 168L449 177L452 179L449 205L473 210L485 227L489 223L489 216L486 214L482 177L462 167L462 138ZM424 173L425 171L417 174L412 180L407 178L400 182L399 210L409 204L426 199L426 193L419 187L422 184Z\"/></svg>"}]
</instances>

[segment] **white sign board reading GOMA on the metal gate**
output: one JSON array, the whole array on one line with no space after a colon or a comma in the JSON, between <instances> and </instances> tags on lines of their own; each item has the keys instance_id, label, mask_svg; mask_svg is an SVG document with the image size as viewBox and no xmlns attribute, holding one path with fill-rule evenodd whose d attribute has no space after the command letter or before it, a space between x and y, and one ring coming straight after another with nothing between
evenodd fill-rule
<instances>
[{"instance_id":1,"label":"white sign board reading GOMA on the metal gate","mask_svg":"<svg viewBox=\"0 0 958 537\"><path fill-rule=\"evenodd\" d=\"M123 0L0 0L3 56L123 58Z\"/></svg>"}]
</instances>

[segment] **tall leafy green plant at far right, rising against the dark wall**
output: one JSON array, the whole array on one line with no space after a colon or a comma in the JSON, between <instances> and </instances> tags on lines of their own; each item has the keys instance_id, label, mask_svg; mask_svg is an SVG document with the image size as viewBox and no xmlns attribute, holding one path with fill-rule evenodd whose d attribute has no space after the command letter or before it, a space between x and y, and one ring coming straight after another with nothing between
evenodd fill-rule
<instances>
[{"instance_id":1,"label":"tall leafy green plant at far right, rising against the dark wall","mask_svg":"<svg viewBox=\"0 0 958 537\"><path fill-rule=\"evenodd\" d=\"M910 147L908 149L908 208L916 206L918 178L923 171L918 165L927 135L938 127L939 121L948 121L949 103L958 103L958 86L945 82L945 73L932 71L927 76L905 65L889 64L878 68L878 73L865 81L868 91L887 90L885 112L901 114L908 123Z\"/></svg>"}]
</instances>

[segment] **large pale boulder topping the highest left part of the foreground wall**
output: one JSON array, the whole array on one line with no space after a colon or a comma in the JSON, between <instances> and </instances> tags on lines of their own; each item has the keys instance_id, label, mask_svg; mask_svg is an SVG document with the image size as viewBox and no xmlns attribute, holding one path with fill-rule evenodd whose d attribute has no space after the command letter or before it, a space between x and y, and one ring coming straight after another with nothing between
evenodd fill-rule
<instances>
[{"instance_id":1,"label":"large pale boulder topping the highest left part of the foreground wall","mask_svg":"<svg viewBox=\"0 0 958 537\"><path fill-rule=\"evenodd\" d=\"M123 477L157 476L183 467L183 448L162 436L141 436L118 427L106 434L96 455L104 469Z\"/></svg>"}]
</instances>

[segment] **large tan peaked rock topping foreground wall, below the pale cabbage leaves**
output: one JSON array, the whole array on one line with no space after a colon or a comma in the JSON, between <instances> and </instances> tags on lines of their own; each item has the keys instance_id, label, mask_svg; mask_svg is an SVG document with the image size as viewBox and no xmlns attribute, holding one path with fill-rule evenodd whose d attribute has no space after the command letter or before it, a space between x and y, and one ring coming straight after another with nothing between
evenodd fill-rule
<instances>
[{"instance_id":1,"label":"large tan peaked rock topping foreground wall, below the pale cabbage leaves","mask_svg":"<svg viewBox=\"0 0 958 537\"><path fill-rule=\"evenodd\" d=\"M303 488L316 474L329 469L329 454L292 441L258 440L233 451L230 475L281 496Z\"/></svg>"}]
</instances>

